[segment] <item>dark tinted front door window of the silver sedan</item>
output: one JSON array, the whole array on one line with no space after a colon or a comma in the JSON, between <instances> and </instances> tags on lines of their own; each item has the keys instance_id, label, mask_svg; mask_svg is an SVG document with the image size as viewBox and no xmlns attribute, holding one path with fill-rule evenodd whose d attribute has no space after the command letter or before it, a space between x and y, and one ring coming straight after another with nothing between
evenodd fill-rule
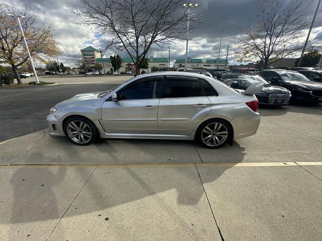
<instances>
[{"instance_id":1,"label":"dark tinted front door window of the silver sedan","mask_svg":"<svg viewBox=\"0 0 322 241\"><path fill-rule=\"evenodd\" d=\"M124 90L118 95L120 100L155 99L157 97L156 81L145 81ZM158 88L159 89L159 88Z\"/></svg>"}]
</instances>

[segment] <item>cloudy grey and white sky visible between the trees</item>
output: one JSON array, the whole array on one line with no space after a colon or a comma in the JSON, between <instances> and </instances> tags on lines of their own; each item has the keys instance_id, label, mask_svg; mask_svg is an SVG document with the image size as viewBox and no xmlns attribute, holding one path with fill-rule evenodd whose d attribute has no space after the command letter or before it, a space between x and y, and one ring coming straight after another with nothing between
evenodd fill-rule
<instances>
[{"instance_id":1,"label":"cloudy grey and white sky visible between the trees","mask_svg":"<svg viewBox=\"0 0 322 241\"><path fill-rule=\"evenodd\" d=\"M7 0L6 2L12 1ZM229 51L228 60L232 63L236 59L233 51L236 43L233 37L240 34L241 23L244 19L253 15L258 2L259 0L195 0L193 3L199 3L200 5L198 11L206 14L208 18L192 32L192 40L189 42L189 57L217 58L220 35L224 29L220 55L225 57L226 45L230 45L229 49L232 49L232 51ZM28 7L31 12L37 15L40 23L45 22L56 26L56 39L60 43L58 58L65 65L73 66L81 58L80 49L89 45L99 47L99 41L95 40L95 30L76 25L70 21L74 19L70 11L76 5L76 0L18 0L16 3L17 6ZM313 16L318 0L308 0L307 3L310 3L308 11ZM320 6L315 19L312 31L313 36L318 32L322 32L321 9L322 6ZM304 41L305 38L303 39ZM322 50L321 42L322 40L315 42L314 47ZM114 52L108 50L105 56L108 57L111 54L114 54ZM151 51L149 56L168 57L168 47L167 49ZM171 62L180 57L185 57L184 42L171 46Z\"/></svg>"}]
</instances>

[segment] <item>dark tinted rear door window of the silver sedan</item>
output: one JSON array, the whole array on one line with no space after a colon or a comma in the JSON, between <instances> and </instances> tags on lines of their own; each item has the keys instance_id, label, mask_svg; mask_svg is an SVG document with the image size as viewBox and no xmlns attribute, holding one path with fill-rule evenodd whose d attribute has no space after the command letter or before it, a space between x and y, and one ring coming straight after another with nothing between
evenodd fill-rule
<instances>
[{"instance_id":1,"label":"dark tinted rear door window of the silver sedan","mask_svg":"<svg viewBox=\"0 0 322 241\"><path fill-rule=\"evenodd\" d=\"M169 77L166 81L165 98L203 96L197 78Z\"/></svg>"}]
</instances>

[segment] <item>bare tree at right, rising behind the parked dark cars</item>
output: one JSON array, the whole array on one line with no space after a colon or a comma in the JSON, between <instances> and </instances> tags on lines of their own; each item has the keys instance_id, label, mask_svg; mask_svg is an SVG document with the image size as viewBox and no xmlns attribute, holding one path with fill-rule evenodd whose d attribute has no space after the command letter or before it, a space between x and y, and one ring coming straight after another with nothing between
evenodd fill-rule
<instances>
[{"instance_id":1,"label":"bare tree at right, rising behind the parked dark cars","mask_svg":"<svg viewBox=\"0 0 322 241\"><path fill-rule=\"evenodd\" d=\"M237 37L241 43L236 50L239 60L257 60L266 68L298 52L309 23L307 7L305 0L261 0L254 19L245 22L243 34Z\"/></svg>"}]
</instances>

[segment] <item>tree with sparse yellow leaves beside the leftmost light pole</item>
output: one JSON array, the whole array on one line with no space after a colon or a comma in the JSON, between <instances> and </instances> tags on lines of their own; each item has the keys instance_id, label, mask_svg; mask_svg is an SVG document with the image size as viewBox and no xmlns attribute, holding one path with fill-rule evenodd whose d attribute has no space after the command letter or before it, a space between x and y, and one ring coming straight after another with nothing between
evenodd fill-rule
<instances>
[{"instance_id":1,"label":"tree with sparse yellow leaves beside the leftmost light pole","mask_svg":"<svg viewBox=\"0 0 322 241\"><path fill-rule=\"evenodd\" d=\"M30 54L42 62L46 62L47 57L54 54L54 43L51 39L54 27L37 25L36 17L28 9L19 8L15 4L0 3L0 62L10 64L18 84L22 84L17 68L25 64L29 57L18 21L7 16L7 13L25 16L21 19L21 25Z\"/></svg>"}]
</instances>

